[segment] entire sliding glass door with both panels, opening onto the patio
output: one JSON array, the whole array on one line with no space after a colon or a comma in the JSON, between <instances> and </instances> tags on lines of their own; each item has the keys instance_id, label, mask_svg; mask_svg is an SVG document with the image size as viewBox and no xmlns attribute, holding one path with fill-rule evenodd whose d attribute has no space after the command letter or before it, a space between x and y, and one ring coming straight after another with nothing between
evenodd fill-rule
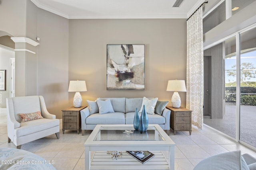
<instances>
[{"instance_id":1,"label":"entire sliding glass door with both panels, opening onto the patio","mask_svg":"<svg viewBox=\"0 0 256 170\"><path fill-rule=\"evenodd\" d=\"M256 25L205 49L204 58L210 66L205 102L211 106L204 124L256 149Z\"/></svg>"}]
</instances>

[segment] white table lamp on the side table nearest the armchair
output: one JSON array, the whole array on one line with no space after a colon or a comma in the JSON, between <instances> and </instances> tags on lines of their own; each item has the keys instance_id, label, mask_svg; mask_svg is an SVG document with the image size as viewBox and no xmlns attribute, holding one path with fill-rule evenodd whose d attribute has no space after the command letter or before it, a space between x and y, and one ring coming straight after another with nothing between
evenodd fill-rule
<instances>
[{"instance_id":1,"label":"white table lamp on the side table nearest the armchair","mask_svg":"<svg viewBox=\"0 0 256 170\"><path fill-rule=\"evenodd\" d=\"M76 92L73 100L74 107L82 106L82 96L80 92L86 92L86 83L85 81L71 80L68 86L68 92Z\"/></svg>"}]
</instances>

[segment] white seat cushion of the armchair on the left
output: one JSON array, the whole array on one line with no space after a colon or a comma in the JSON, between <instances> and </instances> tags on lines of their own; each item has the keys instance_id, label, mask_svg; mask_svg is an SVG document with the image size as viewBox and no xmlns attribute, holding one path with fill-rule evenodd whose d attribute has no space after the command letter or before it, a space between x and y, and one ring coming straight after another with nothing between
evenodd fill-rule
<instances>
[{"instance_id":1,"label":"white seat cushion of the armchair on the left","mask_svg":"<svg viewBox=\"0 0 256 170\"><path fill-rule=\"evenodd\" d=\"M14 129L14 134L17 137L21 137L24 135L29 135L32 133L36 133L38 131L43 131L45 129L50 129L55 126L60 125L59 119L36 119L32 121L26 121L24 123L20 123L20 127Z\"/></svg>"}]
</instances>

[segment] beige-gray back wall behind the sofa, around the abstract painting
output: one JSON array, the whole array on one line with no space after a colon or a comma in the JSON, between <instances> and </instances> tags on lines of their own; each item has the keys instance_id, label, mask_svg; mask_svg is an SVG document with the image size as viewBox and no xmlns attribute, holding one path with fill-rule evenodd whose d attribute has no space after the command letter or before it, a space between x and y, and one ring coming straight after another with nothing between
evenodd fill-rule
<instances>
[{"instance_id":1,"label":"beige-gray back wall behind the sofa, around the abstract painting","mask_svg":"<svg viewBox=\"0 0 256 170\"><path fill-rule=\"evenodd\" d=\"M70 20L69 37L69 80L86 80L84 105L98 97L170 100L168 80L186 80L185 19ZM106 90L107 44L145 44L145 91ZM180 96L186 106L186 93Z\"/></svg>"}]
</instances>

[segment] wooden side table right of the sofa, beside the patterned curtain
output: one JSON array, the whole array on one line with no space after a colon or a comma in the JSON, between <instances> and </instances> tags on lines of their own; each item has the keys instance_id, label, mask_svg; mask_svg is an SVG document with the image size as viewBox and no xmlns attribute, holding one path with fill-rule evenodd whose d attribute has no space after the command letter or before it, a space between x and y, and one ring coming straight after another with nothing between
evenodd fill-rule
<instances>
[{"instance_id":1,"label":"wooden side table right of the sofa, beside the patterned curtain","mask_svg":"<svg viewBox=\"0 0 256 170\"><path fill-rule=\"evenodd\" d=\"M192 132L192 111L184 107L174 108L172 106L166 106L167 109L171 110L170 127L174 131L189 131L189 135Z\"/></svg>"}]
</instances>

